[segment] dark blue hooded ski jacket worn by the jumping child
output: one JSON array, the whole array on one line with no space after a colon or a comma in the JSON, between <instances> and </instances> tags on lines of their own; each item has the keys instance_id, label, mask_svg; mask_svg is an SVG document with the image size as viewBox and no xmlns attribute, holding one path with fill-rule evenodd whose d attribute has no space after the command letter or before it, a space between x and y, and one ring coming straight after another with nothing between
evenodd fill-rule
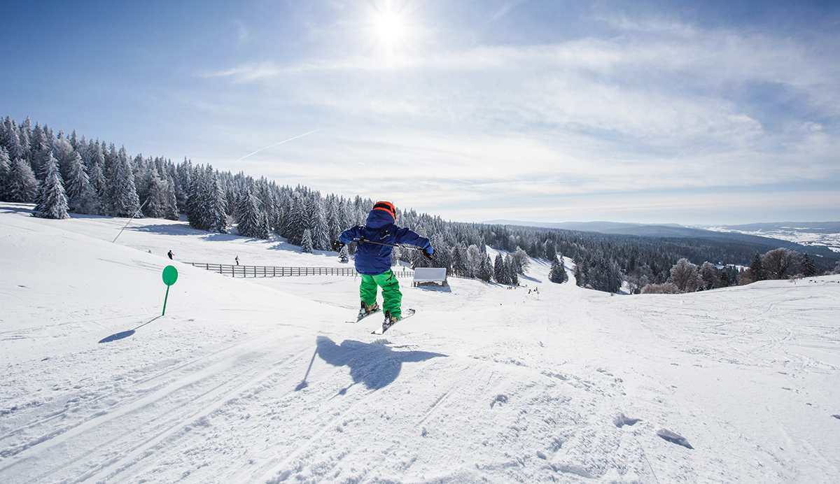
<instances>
[{"instance_id":1,"label":"dark blue hooded ski jacket worn by the jumping child","mask_svg":"<svg viewBox=\"0 0 840 484\"><path fill-rule=\"evenodd\" d=\"M394 218L384 210L372 210L365 225L357 225L342 232L339 241L356 242L355 265L361 274L375 276L391 268L391 246L373 243L359 243L354 239L365 237L366 241L390 244L409 244L425 247L428 238L420 237L411 229L396 226Z\"/></svg>"}]
</instances>

